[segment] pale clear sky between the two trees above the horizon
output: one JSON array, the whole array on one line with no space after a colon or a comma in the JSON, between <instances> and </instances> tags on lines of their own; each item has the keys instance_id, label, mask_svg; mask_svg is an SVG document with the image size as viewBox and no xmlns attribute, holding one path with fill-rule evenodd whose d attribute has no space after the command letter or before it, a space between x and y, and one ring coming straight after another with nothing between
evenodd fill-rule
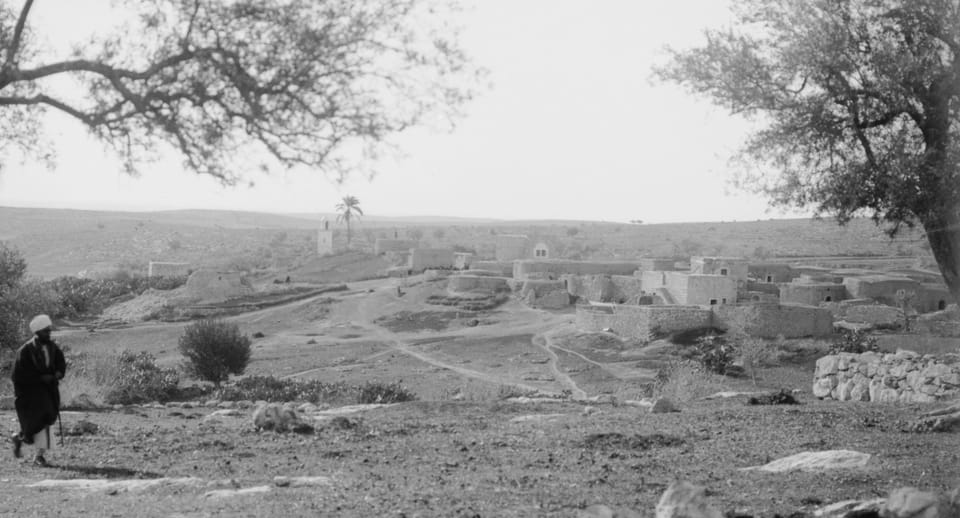
<instances>
[{"instance_id":1,"label":"pale clear sky between the two trees above the horizon","mask_svg":"<svg viewBox=\"0 0 960 518\"><path fill-rule=\"evenodd\" d=\"M57 34L83 25L78 19L103 19L87 2L39 0L35 9L37 22ZM453 131L401 135L402 155L375 164L372 179L341 185L293 170L224 187L176 159L130 177L79 124L57 117L56 166L4 161L0 205L303 213L332 212L352 195L366 214L381 216L797 217L730 184L728 160L747 121L651 78L666 46L696 45L705 27L729 17L725 0L475 0L461 41L489 71L490 89Z\"/></svg>"}]
</instances>

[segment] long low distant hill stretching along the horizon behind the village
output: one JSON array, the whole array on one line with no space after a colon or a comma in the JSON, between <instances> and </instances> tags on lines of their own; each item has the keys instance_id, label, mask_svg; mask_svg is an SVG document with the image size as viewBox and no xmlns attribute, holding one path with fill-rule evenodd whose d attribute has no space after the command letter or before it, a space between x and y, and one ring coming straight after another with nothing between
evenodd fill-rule
<instances>
[{"instance_id":1,"label":"long low distant hill stretching along the horizon behind the village","mask_svg":"<svg viewBox=\"0 0 960 518\"><path fill-rule=\"evenodd\" d=\"M316 257L316 230L322 217L334 225L335 247L344 249L346 233L334 214L221 210L0 207L0 240L21 250L29 273L41 277L117 267L142 272L151 260L247 271L291 270ZM703 254L789 261L837 256L837 264L857 264L844 257L891 257L932 264L922 232L908 231L891 240L867 219L840 227L830 220L810 219L627 224L371 215L353 225L351 248L370 251L376 238L394 234L487 257L493 255L497 235L527 234L551 243L554 257L572 259Z\"/></svg>"}]
</instances>

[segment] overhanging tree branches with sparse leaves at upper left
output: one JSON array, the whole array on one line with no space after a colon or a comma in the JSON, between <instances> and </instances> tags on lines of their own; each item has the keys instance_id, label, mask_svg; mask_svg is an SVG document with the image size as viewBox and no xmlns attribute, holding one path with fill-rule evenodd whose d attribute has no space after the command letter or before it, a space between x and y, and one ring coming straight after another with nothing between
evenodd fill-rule
<instances>
[{"instance_id":1,"label":"overhanging tree branches with sparse leaves at upper left","mask_svg":"<svg viewBox=\"0 0 960 518\"><path fill-rule=\"evenodd\" d=\"M169 145L227 183L251 160L342 178L391 135L453 115L476 79L445 0L114 2L123 30L66 56L39 45L34 3L0 0L0 152L42 155L56 110L130 172Z\"/></svg>"}]
</instances>

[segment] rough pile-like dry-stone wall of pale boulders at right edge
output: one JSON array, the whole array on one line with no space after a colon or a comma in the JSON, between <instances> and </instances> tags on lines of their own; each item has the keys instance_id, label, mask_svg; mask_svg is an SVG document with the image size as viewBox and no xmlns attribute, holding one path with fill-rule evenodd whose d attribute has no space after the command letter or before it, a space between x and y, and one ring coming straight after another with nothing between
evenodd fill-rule
<instances>
[{"instance_id":1,"label":"rough pile-like dry-stone wall of pale boulders at right edge","mask_svg":"<svg viewBox=\"0 0 960 518\"><path fill-rule=\"evenodd\" d=\"M839 401L927 403L960 396L960 355L840 353L817 360L813 395Z\"/></svg>"}]
</instances>

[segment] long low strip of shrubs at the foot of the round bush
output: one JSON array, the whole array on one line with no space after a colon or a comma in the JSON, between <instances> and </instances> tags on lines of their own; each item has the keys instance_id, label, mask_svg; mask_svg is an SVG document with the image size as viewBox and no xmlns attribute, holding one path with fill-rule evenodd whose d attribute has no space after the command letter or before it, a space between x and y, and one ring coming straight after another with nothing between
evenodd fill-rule
<instances>
[{"instance_id":1,"label":"long low strip of shrubs at the foot of the round bush","mask_svg":"<svg viewBox=\"0 0 960 518\"><path fill-rule=\"evenodd\" d=\"M273 376L250 376L224 387L220 399L225 401L307 401L334 403L350 400L355 389L344 383L322 381L282 380Z\"/></svg>"}]
</instances>

